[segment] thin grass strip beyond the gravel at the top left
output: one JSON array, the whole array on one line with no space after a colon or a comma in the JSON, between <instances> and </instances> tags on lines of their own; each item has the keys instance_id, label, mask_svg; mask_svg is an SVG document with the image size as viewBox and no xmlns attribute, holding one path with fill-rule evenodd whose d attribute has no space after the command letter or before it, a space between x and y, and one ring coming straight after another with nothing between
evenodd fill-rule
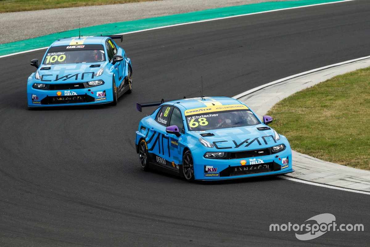
<instances>
[{"instance_id":1,"label":"thin grass strip beyond the gravel at the top left","mask_svg":"<svg viewBox=\"0 0 370 247\"><path fill-rule=\"evenodd\" d=\"M0 0L0 13L143 1L154 0Z\"/></svg>"}]
</instances>

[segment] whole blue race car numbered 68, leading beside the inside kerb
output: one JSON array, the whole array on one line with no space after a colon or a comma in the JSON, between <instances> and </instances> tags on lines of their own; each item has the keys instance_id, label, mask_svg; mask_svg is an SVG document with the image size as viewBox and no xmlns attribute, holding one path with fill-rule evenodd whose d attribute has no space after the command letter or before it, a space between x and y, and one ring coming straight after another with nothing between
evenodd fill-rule
<instances>
[{"instance_id":1,"label":"whole blue race car numbered 68, leading beside the inside kerb","mask_svg":"<svg viewBox=\"0 0 370 247\"><path fill-rule=\"evenodd\" d=\"M223 180L293 172L285 136L242 102L201 97L161 103L136 131L142 170L155 168L193 180Z\"/></svg>"}]
</instances>

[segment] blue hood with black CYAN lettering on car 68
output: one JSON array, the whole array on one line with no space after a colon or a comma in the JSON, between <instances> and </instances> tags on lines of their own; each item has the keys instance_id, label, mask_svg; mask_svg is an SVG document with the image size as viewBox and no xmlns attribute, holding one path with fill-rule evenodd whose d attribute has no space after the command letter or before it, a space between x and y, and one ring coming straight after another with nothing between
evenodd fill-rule
<instances>
[{"instance_id":1,"label":"blue hood with black CYAN lettering on car 68","mask_svg":"<svg viewBox=\"0 0 370 247\"><path fill-rule=\"evenodd\" d=\"M275 140L274 131L269 128L266 130L258 130L258 128L266 128L265 124L254 126L223 128L219 130L209 131L194 131L193 134L197 137L202 137L209 143L213 143L215 148L223 151L242 151L260 149L275 146L278 144ZM207 133L214 136L206 135Z\"/></svg>"}]
</instances>

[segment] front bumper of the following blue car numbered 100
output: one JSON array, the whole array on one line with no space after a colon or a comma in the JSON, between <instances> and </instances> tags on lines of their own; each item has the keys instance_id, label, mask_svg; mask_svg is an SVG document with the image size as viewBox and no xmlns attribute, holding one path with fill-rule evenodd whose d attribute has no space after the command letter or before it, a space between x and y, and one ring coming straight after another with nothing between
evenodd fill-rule
<instances>
[{"instance_id":1,"label":"front bumper of the following blue car numbered 100","mask_svg":"<svg viewBox=\"0 0 370 247\"><path fill-rule=\"evenodd\" d=\"M27 87L28 107L105 104L113 101L111 85L68 90L41 90Z\"/></svg>"}]
</instances>

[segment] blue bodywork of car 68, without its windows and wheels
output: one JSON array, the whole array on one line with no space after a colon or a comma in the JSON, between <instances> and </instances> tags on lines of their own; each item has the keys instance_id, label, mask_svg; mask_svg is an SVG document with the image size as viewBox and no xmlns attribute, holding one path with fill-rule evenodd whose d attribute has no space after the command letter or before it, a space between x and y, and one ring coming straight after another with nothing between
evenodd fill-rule
<instances>
[{"instance_id":1,"label":"blue bodywork of car 68, without its windows and wheels","mask_svg":"<svg viewBox=\"0 0 370 247\"><path fill-rule=\"evenodd\" d=\"M275 139L275 133L270 128L267 130L258 130L258 128L267 127L262 122L253 126L221 128L207 131L188 130L185 114L189 114L191 111L200 113L202 111L207 112L207 107L213 107L212 109L215 109L215 106L222 108L223 106L237 107L240 105L245 106L240 101L228 97L205 97L203 100L199 98L182 99L163 103L150 116L144 117L140 121L139 129L136 131L135 143L138 146L139 142L144 139L148 147L149 158L151 160L150 164L161 167L162 170L164 168L164 170L178 174L179 176L183 175L183 155L186 150L190 150L194 162L194 178L196 180L224 180L293 172L292 151L288 140L282 135L279 135L280 139L276 140L278 138ZM179 137L176 137L175 134L166 133L166 126L169 123L164 124L163 122L161 124L156 121L156 117L162 106L173 106L181 112L185 130ZM213 112L213 110L209 112ZM213 136L201 136L201 134L208 132L212 133ZM214 147L203 146L199 138L215 144ZM258 152L259 150L272 148L280 144L285 145L285 150L257 157L230 159L204 157L206 152L233 153L250 150L257 150ZM238 175L239 172L247 173L244 171L246 168L256 166L258 168L258 166L267 166L267 164L273 167L273 171Z\"/></svg>"}]
</instances>

